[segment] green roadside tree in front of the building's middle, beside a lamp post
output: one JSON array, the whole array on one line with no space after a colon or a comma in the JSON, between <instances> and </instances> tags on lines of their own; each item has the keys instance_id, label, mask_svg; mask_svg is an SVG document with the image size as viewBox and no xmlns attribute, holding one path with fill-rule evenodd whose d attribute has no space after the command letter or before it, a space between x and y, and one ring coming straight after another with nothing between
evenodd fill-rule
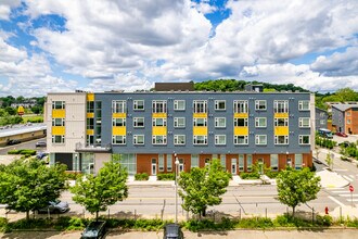
<instances>
[{"instance_id":1,"label":"green roadside tree in front of the building's middle, beside a lamp post","mask_svg":"<svg viewBox=\"0 0 358 239\"><path fill-rule=\"evenodd\" d=\"M213 160L204 168L193 167L190 173L181 173L178 184L182 207L205 216L207 206L221 203L220 196L227 191L229 179L230 174L223 171L219 160Z\"/></svg>"}]
</instances>

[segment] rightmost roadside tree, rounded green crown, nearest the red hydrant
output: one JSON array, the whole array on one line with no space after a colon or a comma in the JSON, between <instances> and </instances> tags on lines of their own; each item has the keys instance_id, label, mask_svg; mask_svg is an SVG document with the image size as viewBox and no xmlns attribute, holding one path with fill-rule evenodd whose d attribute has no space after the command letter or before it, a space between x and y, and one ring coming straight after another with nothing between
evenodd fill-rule
<instances>
[{"instance_id":1,"label":"rightmost roadside tree, rounded green crown, nearest the red hydrant","mask_svg":"<svg viewBox=\"0 0 358 239\"><path fill-rule=\"evenodd\" d=\"M292 215L301 203L317 199L320 190L320 177L315 176L308 167L295 171L291 167L282 171L277 177L278 199L292 207Z\"/></svg>"}]
</instances>

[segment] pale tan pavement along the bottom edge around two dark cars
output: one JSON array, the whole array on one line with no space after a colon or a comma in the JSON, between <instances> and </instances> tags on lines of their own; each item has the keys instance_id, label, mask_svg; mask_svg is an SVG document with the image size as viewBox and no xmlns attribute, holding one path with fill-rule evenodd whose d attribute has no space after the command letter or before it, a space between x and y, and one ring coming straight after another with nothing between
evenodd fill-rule
<instances>
[{"instance_id":1,"label":"pale tan pavement along the bottom edge around two dark cars","mask_svg":"<svg viewBox=\"0 0 358 239\"><path fill-rule=\"evenodd\" d=\"M205 238L205 239L356 239L358 230L356 229L330 229L330 230L230 230L230 231L203 231L191 232L183 231L184 238ZM78 239L80 231L75 232L60 232L60 231L26 231L26 232L12 232L0 234L2 239ZM163 231L113 231L106 235L106 239L162 239Z\"/></svg>"}]
</instances>

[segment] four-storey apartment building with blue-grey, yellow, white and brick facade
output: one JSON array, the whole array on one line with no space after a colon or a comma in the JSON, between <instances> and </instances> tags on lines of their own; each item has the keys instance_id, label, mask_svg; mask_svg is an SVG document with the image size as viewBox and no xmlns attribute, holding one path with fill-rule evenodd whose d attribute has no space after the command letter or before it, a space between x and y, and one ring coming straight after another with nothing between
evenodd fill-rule
<instances>
[{"instance_id":1,"label":"four-storey apartment building with blue-grey, yellow, white and brick facade","mask_svg":"<svg viewBox=\"0 0 358 239\"><path fill-rule=\"evenodd\" d=\"M231 174L263 163L312 165L315 99L307 92L49 93L50 163L97 173L119 158L129 175L155 176L219 159Z\"/></svg>"}]
</instances>

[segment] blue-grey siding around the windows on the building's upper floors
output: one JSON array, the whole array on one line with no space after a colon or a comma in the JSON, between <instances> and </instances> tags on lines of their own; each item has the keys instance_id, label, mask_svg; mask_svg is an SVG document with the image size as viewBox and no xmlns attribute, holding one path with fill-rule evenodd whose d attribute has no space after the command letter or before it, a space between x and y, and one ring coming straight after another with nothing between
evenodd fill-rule
<instances>
[{"instance_id":1,"label":"blue-grey siding around the windows on the building's upper floors","mask_svg":"<svg viewBox=\"0 0 358 239\"><path fill-rule=\"evenodd\" d=\"M215 111L215 100L226 100L226 111ZM310 100L309 93L256 92L135 92L95 93L102 101L102 146L112 143L112 101L127 101L127 138L125 146L113 146L114 153L309 153L310 146L299 146L299 135L310 135L310 128L299 128L298 118L309 117L309 111L298 111L299 100ZM144 100L144 111L133 111L133 100ZM152 144L152 100L167 100L167 144ZM186 111L174 111L174 100L186 100ZM193 100L207 100L208 144L193 146ZM248 144L233 144L233 101L248 101ZM267 100L266 111L255 110L255 100ZM273 101L289 101L289 144L276 146L273 136ZM144 128L133 128L133 117L144 117ZM186 128L174 128L174 117L186 117ZM215 117L226 117L226 128L215 128ZM266 128L255 128L255 117L267 117ZM144 135L144 146L133 146L133 135ZM174 146L174 135L186 135L186 146ZM226 146L215 146L215 135L227 135ZM256 146L255 135L267 135L267 146Z\"/></svg>"}]
</instances>

